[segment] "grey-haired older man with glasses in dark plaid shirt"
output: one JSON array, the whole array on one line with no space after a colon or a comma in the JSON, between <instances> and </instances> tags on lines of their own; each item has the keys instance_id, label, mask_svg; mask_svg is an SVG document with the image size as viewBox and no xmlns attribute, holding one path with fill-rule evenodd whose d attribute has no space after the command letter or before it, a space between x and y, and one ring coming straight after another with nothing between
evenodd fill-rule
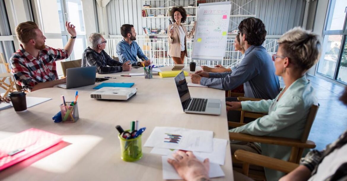
<instances>
[{"instance_id":1,"label":"grey-haired older man with glasses in dark plaid shirt","mask_svg":"<svg viewBox=\"0 0 347 181\"><path fill-rule=\"evenodd\" d=\"M129 61L125 63L113 60L104 49L107 41L100 33L92 33L89 36L89 47L82 55L82 67L96 66L99 74L129 71L132 69Z\"/></svg>"}]
</instances>

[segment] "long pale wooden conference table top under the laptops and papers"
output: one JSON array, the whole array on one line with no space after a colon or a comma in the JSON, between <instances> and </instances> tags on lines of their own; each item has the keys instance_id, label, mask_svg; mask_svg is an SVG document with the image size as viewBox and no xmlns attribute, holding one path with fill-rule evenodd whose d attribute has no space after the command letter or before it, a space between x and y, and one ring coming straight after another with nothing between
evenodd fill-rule
<instances>
[{"instance_id":1,"label":"long pale wooden conference table top under the laptops and papers","mask_svg":"<svg viewBox=\"0 0 347 181\"><path fill-rule=\"evenodd\" d=\"M161 67L162 71L171 67ZM199 67L197 67L199 69ZM189 67L184 68L189 72ZM49 97L52 100L30 107L25 112L13 108L0 111L0 139L29 128L37 128L63 136L57 145L16 165L0 171L0 180L127 180L154 181L162 178L161 155L151 154L150 147L142 147L143 156L136 162L120 158L120 143L116 125L129 129L130 122L139 121L146 127L142 145L156 126L179 127L213 131L214 138L229 140L225 91L189 87L192 97L221 100L221 115L187 114L183 112L174 77L161 78L153 72L152 79L144 76L122 77L143 72L143 68L114 74L97 74L97 77L115 77L104 82L135 83L137 94L126 101L95 100L90 94L95 85L63 89L40 89L27 96ZM190 82L190 77L186 77ZM78 91L79 120L75 123L54 123L53 115L60 111L61 95L73 101ZM229 141L226 148L225 177L212 180L234 180Z\"/></svg>"}]
</instances>

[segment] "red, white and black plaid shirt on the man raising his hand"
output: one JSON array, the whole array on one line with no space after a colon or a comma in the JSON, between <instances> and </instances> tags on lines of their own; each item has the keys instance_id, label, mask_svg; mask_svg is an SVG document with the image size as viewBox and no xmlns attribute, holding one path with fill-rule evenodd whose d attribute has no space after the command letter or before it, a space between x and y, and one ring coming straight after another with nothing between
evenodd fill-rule
<instances>
[{"instance_id":1,"label":"red, white and black plaid shirt on the man raising his hand","mask_svg":"<svg viewBox=\"0 0 347 181\"><path fill-rule=\"evenodd\" d=\"M57 80L56 61L68 57L66 50L46 46L39 52L39 59L36 59L20 45L20 49L10 59L12 75L17 84L31 92L37 83Z\"/></svg>"}]
</instances>

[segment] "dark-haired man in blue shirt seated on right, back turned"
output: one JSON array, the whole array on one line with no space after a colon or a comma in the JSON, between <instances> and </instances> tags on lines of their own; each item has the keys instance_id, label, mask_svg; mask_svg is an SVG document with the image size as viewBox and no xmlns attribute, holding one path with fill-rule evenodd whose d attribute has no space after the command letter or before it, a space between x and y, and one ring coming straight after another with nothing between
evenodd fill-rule
<instances>
[{"instance_id":1,"label":"dark-haired man in blue shirt seated on right, back turned","mask_svg":"<svg viewBox=\"0 0 347 181\"><path fill-rule=\"evenodd\" d=\"M261 46L266 30L258 18L246 18L239 25L240 44L245 57L232 72L211 73L197 71L192 83L232 90L243 84L245 97L274 99L279 94L279 81L270 54ZM229 101L229 100L227 100Z\"/></svg>"}]
</instances>

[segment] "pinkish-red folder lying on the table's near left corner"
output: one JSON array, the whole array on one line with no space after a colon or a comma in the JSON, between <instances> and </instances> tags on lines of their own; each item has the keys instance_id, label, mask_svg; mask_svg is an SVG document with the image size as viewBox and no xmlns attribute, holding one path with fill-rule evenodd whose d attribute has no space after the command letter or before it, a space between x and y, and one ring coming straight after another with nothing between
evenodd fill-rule
<instances>
[{"instance_id":1,"label":"pinkish-red folder lying on the table's near left corner","mask_svg":"<svg viewBox=\"0 0 347 181\"><path fill-rule=\"evenodd\" d=\"M31 128L0 140L0 171L62 141L62 136Z\"/></svg>"}]
</instances>

